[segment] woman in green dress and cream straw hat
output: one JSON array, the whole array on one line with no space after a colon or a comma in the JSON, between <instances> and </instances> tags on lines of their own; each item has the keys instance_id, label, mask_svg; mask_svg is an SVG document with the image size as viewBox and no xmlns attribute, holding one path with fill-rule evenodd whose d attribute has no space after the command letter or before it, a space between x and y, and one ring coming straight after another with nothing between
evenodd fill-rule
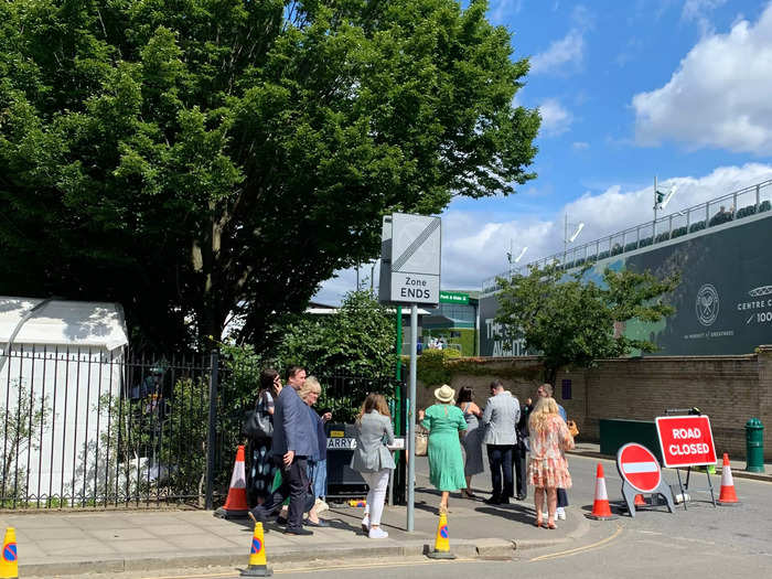
<instances>
[{"instance_id":1,"label":"woman in green dress and cream straw hat","mask_svg":"<svg viewBox=\"0 0 772 579\"><path fill-rule=\"evenodd\" d=\"M451 491L467 489L460 442L467 420L453 405L454 397L453 388L444 384L435 390L437 404L418 411L421 426L429 430L429 480L442 493L440 513L448 512Z\"/></svg>"}]
</instances>

